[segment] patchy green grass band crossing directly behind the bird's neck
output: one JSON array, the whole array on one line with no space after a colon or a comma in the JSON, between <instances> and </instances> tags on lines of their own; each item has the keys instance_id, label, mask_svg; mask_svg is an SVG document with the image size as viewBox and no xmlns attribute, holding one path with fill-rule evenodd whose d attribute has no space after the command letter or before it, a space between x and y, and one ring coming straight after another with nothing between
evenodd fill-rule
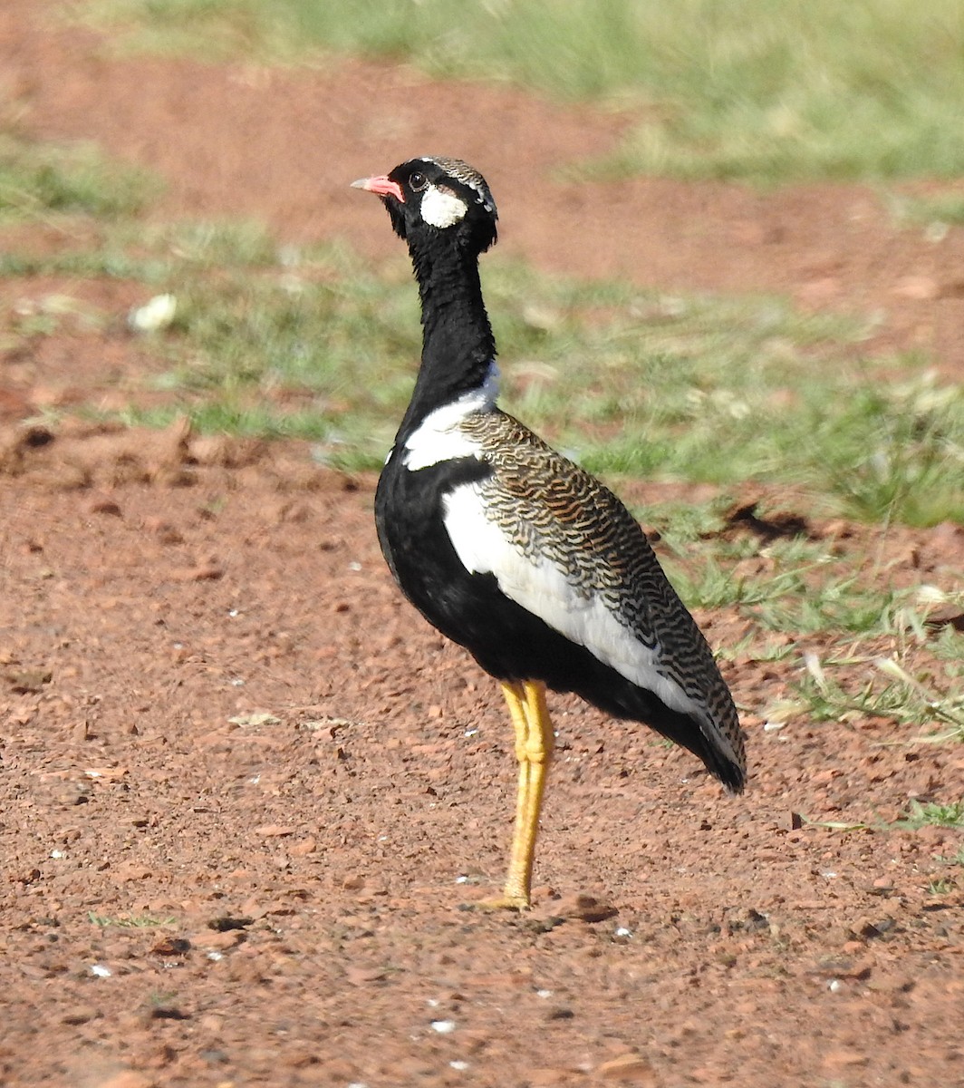
<instances>
[{"instance_id":1,"label":"patchy green grass band crossing directly behind the bird's neck","mask_svg":"<svg viewBox=\"0 0 964 1088\"><path fill-rule=\"evenodd\" d=\"M404 255L372 268L337 246L279 248L252 224L120 219L86 249L0 257L0 273L123 277L176 296L174 322L143 339L166 396L135 401L130 421L187 412L202 430L312 438L322 459L377 468L414 381ZM773 297L551 277L498 256L484 283L504 403L591 471L779 482L863 520L964 517L964 393L924 372L882 379L919 363L862 357L857 321ZM33 335L42 321L55 331L49 314L34 320Z\"/></svg>"}]
</instances>

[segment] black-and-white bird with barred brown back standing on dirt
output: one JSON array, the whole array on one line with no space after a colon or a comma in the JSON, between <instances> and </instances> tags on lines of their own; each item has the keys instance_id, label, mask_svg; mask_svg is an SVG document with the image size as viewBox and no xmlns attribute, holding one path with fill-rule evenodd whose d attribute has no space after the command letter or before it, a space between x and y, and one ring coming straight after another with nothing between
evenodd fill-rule
<instances>
[{"instance_id":1,"label":"black-and-white bird with barred brown back standing on dirt","mask_svg":"<svg viewBox=\"0 0 964 1088\"><path fill-rule=\"evenodd\" d=\"M362 178L412 257L422 366L375 496L404 595L496 677L515 728L518 792L503 894L529 906L554 734L546 689L576 692L689 749L733 792L743 739L713 654L616 496L496 405L478 257L496 242L485 178L424 156Z\"/></svg>"}]
</instances>

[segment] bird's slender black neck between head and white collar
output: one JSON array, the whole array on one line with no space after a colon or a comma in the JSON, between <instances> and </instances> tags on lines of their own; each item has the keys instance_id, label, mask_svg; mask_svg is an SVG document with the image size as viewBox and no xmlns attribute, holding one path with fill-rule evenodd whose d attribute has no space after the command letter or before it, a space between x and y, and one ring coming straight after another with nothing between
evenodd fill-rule
<instances>
[{"instance_id":1,"label":"bird's slender black neck between head and white collar","mask_svg":"<svg viewBox=\"0 0 964 1088\"><path fill-rule=\"evenodd\" d=\"M496 358L477 255L447 238L418 240L410 240L409 250L422 299L422 366L402 430L479 388Z\"/></svg>"}]
</instances>

